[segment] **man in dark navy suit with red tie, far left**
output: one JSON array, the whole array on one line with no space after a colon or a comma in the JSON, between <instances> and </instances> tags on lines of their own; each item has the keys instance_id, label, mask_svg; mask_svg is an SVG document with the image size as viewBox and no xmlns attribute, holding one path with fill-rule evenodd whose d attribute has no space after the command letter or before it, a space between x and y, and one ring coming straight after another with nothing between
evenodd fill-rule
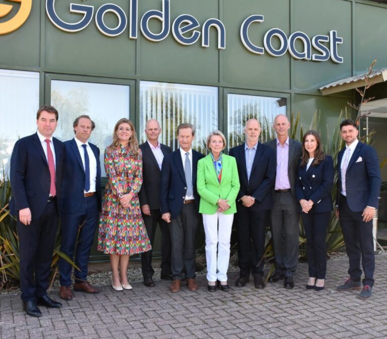
<instances>
[{"instance_id":1,"label":"man in dark navy suit with red tie, far left","mask_svg":"<svg viewBox=\"0 0 387 339\"><path fill-rule=\"evenodd\" d=\"M52 137L58 112L42 106L37 132L18 140L11 156L11 214L17 217L20 288L25 312L41 316L37 305L61 307L47 295L60 210L64 145Z\"/></svg>"}]
</instances>

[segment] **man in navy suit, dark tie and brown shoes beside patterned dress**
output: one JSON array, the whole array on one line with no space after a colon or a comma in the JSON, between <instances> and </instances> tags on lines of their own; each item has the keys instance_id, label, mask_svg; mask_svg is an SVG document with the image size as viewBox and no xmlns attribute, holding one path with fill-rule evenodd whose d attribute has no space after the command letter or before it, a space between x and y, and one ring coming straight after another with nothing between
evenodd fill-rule
<instances>
[{"instance_id":1,"label":"man in navy suit, dark tie and brown shoes beside patterned dress","mask_svg":"<svg viewBox=\"0 0 387 339\"><path fill-rule=\"evenodd\" d=\"M78 117L73 128L74 139L64 142L66 163L62 185L60 250L73 259L76 248L75 263L79 270L74 270L74 291L99 293L99 289L87 281L87 265L98 224L98 211L101 211L99 148L88 142L95 128L89 116ZM71 272L72 265L60 258L59 296L64 300L73 299Z\"/></svg>"}]
</instances>

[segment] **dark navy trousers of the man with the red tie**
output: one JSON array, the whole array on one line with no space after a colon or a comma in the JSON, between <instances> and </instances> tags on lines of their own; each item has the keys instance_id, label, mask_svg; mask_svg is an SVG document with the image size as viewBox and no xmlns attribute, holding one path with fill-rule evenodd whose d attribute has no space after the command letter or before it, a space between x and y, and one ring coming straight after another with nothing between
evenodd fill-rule
<instances>
[{"instance_id":1,"label":"dark navy trousers of the man with the red tie","mask_svg":"<svg viewBox=\"0 0 387 339\"><path fill-rule=\"evenodd\" d=\"M29 225L22 224L18 218L20 289L23 302L34 301L47 294L57 223L55 200L47 202L42 215Z\"/></svg>"}]
</instances>

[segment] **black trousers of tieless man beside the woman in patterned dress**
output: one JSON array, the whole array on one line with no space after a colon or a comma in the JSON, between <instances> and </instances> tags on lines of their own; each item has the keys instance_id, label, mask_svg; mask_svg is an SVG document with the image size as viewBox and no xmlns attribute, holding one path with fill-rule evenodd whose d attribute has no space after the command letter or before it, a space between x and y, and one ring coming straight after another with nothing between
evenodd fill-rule
<instances>
[{"instance_id":1,"label":"black trousers of tieless man beside the woman in patterned dress","mask_svg":"<svg viewBox=\"0 0 387 339\"><path fill-rule=\"evenodd\" d=\"M152 209L151 215L143 214L143 219L152 248L157 223L159 224L161 231L161 276L171 275L171 236L169 235L168 223L161 218L160 209ZM141 267L144 278L151 278L155 273L152 267L152 252L150 250L141 254Z\"/></svg>"}]
</instances>

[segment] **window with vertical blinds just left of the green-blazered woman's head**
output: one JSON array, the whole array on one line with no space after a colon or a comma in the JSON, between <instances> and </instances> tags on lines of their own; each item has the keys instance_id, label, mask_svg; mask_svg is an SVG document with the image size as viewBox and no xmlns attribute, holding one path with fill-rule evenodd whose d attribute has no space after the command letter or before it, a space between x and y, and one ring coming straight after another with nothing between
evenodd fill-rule
<instances>
[{"instance_id":1,"label":"window with vertical blinds just left of the green-blazered woman's head","mask_svg":"<svg viewBox=\"0 0 387 339\"><path fill-rule=\"evenodd\" d=\"M177 126L190 123L196 128L192 148L205 152L207 135L218 129L218 88L142 81L140 83L140 142L146 140L145 124L159 121L160 142L175 150Z\"/></svg>"}]
</instances>

